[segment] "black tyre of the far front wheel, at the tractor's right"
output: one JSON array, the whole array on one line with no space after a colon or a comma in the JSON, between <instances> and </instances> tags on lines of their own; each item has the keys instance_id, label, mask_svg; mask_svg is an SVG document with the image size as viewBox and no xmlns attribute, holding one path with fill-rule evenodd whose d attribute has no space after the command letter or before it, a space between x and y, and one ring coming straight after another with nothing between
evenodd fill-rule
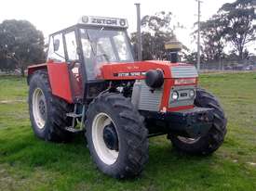
<instances>
[{"instance_id":1,"label":"black tyre of the far front wheel, at the tractor's right","mask_svg":"<svg viewBox=\"0 0 256 191\"><path fill-rule=\"evenodd\" d=\"M214 108L213 123L209 133L195 139L169 134L172 145L183 152L196 155L209 155L222 146L227 132L227 120L217 98L203 89L197 89L195 106L200 108Z\"/></svg>"}]
</instances>

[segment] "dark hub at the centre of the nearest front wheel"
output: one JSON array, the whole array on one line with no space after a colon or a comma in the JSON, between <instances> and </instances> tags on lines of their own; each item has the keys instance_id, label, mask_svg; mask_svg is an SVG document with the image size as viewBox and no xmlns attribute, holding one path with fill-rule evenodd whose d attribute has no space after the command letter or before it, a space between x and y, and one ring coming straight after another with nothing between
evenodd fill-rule
<instances>
[{"instance_id":1,"label":"dark hub at the centre of the nearest front wheel","mask_svg":"<svg viewBox=\"0 0 256 191\"><path fill-rule=\"evenodd\" d=\"M118 136L113 123L104 127L103 140L109 149L118 151Z\"/></svg>"}]
</instances>

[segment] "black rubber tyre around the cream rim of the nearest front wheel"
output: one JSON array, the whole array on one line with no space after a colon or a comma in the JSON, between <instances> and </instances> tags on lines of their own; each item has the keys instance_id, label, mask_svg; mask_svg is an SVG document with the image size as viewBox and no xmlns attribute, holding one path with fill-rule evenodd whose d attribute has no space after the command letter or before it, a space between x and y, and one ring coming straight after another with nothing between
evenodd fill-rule
<instances>
[{"instance_id":1,"label":"black rubber tyre around the cream rim of the nearest front wheel","mask_svg":"<svg viewBox=\"0 0 256 191\"><path fill-rule=\"evenodd\" d=\"M96 166L102 172L111 175L115 178L134 177L141 173L143 165L146 163L148 159L148 142L146 138L147 130L143 127L143 124L140 121L139 112L133 110L133 115L131 116L132 118L134 118L133 121L120 117L118 109L115 108L111 102L105 101L105 99L102 99L100 102L93 101L92 106L88 109L88 120L86 122L86 136L88 141L88 148L92 156L92 159L96 163ZM94 147L92 140L92 123L97 114L101 112L107 114L115 123L115 130L118 135L119 153L115 163L111 165L108 165L101 160L101 158L98 156L98 153ZM136 120L138 120L139 122L135 122ZM134 131L137 133L141 131L141 134L143 134L141 135L141 138L138 138L134 134L129 134L125 130L126 125L132 127ZM146 134L144 134L145 131ZM135 163L133 163L134 159L136 160Z\"/></svg>"}]
</instances>

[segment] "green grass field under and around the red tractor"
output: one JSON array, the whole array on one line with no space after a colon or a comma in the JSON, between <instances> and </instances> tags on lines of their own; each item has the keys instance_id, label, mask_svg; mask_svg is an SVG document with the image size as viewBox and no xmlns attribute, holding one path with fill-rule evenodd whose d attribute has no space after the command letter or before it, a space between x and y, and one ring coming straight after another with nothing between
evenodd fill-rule
<instances>
[{"instance_id":1,"label":"green grass field under and around the red tractor","mask_svg":"<svg viewBox=\"0 0 256 191\"><path fill-rule=\"evenodd\" d=\"M0 76L0 190L256 190L256 73L208 74L200 85L218 96L228 134L212 156L175 151L166 136L150 140L141 177L117 181L99 172L83 137L71 144L37 139L25 79Z\"/></svg>"}]
</instances>

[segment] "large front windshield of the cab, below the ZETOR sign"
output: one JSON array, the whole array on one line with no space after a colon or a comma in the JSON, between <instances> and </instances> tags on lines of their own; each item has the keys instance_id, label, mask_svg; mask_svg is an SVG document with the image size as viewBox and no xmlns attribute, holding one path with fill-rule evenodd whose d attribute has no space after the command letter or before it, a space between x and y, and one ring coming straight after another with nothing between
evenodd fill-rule
<instances>
[{"instance_id":1,"label":"large front windshield of the cab, below the ZETOR sign","mask_svg":"<svg viewBox=\"0 0 256 191\"><path fill-rule=\"evenodd\" d=\"M103 63L134 61L126 32L81 29L81 43L88 80L96 79Z\"/></svg>"}]
</instances>

